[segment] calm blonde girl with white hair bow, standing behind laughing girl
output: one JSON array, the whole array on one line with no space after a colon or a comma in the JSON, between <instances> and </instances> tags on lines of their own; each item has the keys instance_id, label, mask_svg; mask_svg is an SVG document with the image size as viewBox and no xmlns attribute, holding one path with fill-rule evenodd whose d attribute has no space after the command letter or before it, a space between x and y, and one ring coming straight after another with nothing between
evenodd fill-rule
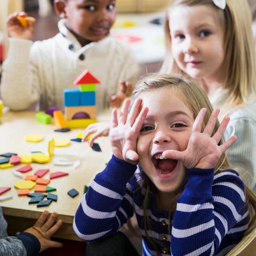
<instances>
[{"instance_id":1,"label":"calm blonde girl with white hair bow, standing behind laughing girl","mask_svg":"<svg viewBox=\"0 0 256 256\"><path fill-rule=\"evenodd\" d=\"M161 73L183 74L202 86L220 118L230 116L228 151L256 190L255 62L251 12L244 0L173 0L165 20ZM249 174L249 175L247 175Z\"/></svg>"}]
</instances>

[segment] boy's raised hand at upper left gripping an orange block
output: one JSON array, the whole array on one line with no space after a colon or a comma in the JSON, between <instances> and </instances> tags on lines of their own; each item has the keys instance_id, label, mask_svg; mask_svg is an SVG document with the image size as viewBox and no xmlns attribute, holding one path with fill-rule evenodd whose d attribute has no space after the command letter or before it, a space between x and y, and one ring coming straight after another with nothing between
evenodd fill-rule
<instances>
[{"instance_id":1,"label":"boy's raised hand at upper left gripping an orange block","mask_svg":"<svg viewBox=\"0 0 256 256\"><path fill-rule=\"evenodd\" d=\"M26 18L26 20L24 18ZM27 17L27 13L14 12L7 18L7 29L9 36L30 40L34 34L34 24L35 19L32 17Z\"/></svg>"}]
</instances>

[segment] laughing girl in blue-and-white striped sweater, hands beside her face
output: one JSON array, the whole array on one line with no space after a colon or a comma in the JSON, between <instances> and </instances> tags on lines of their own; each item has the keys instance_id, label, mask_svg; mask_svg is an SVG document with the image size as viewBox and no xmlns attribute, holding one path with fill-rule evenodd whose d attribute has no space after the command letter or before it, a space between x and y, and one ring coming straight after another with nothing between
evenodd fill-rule
<instances>
[{"instance_id":1,"label":"laughing girl in blue-and-white striped sweater, hands beside her face","mask_svg":"<svg viewBox=\"0 0 256 256\"><path fill-rule=\"evenodd\" d=\"M134 213L143 255L224 255L241 241L252 213L225 155L236 137L222 143L229 117L219 125L219 111L185 78L150 75L138 83L119 118L113 111L113 157L75 215L80 238L105 238L89 243L90 255L129 255L115 254L122 242L108 254L105 242Z\"/></svg>"}]
</instances>

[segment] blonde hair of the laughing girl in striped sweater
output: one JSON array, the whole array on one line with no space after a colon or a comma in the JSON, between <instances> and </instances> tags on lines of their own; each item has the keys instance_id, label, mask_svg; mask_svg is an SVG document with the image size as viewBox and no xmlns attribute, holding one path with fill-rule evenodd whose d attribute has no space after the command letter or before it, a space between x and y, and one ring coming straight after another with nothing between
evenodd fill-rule
<instances>
[{"instance_id":1,"label":"blonde hair of the laughing girl in striped sweater","mask_svg":"<svg viewBox=\"0 0 256 256\"><path fill-rule=\"evenodd\" d=\"M197 114L202 108L206 108L206 114L204 117L204 122L202 124L202 131L204 130L210 115L213 111L213 108L211 106L211 103L209 99L207 98L207 95L204 93L202 88L194 81L191 81L191 79L187 79L182 76L173 76L173 75L163 75L163 74L150 74L145 77L143 77L135 86L132 97L131 97L131 105L134 102L135 99L140 97L141 94L146 93L148 91L156 91L157 90L173 90L173 93L177 95L177 97L181 97L183 102L186 104L186 106L191 110L193 113L194 119L196 118ZM167 106L166 106L167 107ZM215 124L215 127L213 129L213 134L217 132L219 127L219 122ZM219 142L219 145L221 145L222 141ZM215 166L215 172L221 172L226 169L231 169L229 162L227 160L226 154L223 153ZM149 237L148 231L150 228L150 221L149 217L147 215L147 209L148 209L148 198L150 193L154 193L157 191L157 188L154 186L154 183L150 181L150 179L146 176L145 173L142 172L143 178L144 178L144 186L146 188L146 194L144 197L142 209L143 209L143 218L144 218L144 225L145 225L145 234L149 242L153 244L153 246L156 249L155 243L156 241L153 241L152 238ZM183 191L183 187L177 191L177 196L173 198L173 203L177 204L177 199L180 196L180 194ZM252 198L252 192L250 189L245 187L245 195L248 196L248 198ZM247 197L246 197L247 198ZM248 204L249 211L251 215L251 221L253 223L256 222L255 214L253 211L253 205ZM254 204L255 206L255 204ZM256 223L255 223L256 225Z\"/></svg>"}]
</instances>

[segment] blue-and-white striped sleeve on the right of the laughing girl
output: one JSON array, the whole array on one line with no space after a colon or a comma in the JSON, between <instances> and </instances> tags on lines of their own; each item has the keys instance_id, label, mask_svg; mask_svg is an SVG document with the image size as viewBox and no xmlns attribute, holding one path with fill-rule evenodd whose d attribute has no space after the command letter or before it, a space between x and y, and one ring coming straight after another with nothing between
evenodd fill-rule
<instances>
[{"instance_id":1,"label":"blue-and-white striped sleeve on the right of the laughing girl","mask_svg":"<svg viewBox=\"0 0 256 256\"><path fill-rule=\"evenodd\" d=\"M223 171L215 177L213 173L214 170L187 170L187 184L173 217L173 256L215 255L225 236L231 237L226 239L227 245L230 241L236 244L247 228L243 181L233 171Z\"/></svg>"}]
</instances>

